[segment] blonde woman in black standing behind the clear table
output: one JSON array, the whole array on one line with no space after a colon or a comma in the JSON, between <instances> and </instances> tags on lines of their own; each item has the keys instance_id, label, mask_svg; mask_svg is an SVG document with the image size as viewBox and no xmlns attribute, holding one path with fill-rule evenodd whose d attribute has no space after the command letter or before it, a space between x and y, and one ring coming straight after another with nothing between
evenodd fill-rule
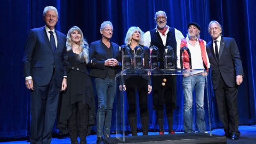
<instances>
[{"instance_id":1,"label":"blonde woman in black standing behind the clear table","mask_svg":"<svg viewBox=\"0 0 256 144\"><path fill-rule=\"evenodd\" d=\"M131 27L127 31L125 37L125 44L122 46L129 47L131 55L134 56L139 49L143 51L143 67L148 69L148 47L143 46L143 31L139 27ZM131 56L131 57L133 57ZM143 135L148 135L148 106L147 94L151 92L150 76L125 76L125 85L123 89L126 90L127 101L129 103L128 119L132 135L137 135L137 115L136 115L136 95L139 96L140 117Z\"/></svg>"}]
</instances>

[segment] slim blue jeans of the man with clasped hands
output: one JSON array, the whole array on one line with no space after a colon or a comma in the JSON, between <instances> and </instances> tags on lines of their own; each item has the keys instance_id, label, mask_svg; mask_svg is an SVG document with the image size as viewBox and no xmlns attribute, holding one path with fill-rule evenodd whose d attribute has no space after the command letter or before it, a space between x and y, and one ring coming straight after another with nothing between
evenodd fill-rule
<instances>
[{"instance_id":1,"label":"slim blue jeans of the man with clasped hands","mask_svg":"<svg viewBox=\"0 0 256 144\"><path fill-rule=\"evenodd\" d=\"M97 137L110 134L113 102L115 99L116 82L110 78L95 78L98 94Z\"/></svg>"}]
</instances>

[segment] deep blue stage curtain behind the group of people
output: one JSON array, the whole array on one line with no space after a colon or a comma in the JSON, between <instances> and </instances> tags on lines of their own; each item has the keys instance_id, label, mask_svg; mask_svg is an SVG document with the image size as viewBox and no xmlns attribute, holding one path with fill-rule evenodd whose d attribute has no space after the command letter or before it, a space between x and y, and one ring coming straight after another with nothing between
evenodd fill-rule
<instances>
[{"instance_id":1,"label":"deep blue stage curtain behind the group of people","mask_svg":"<svg viewBox=\"0 0 256 144\"><path fill-rule=\"evenodd\" d=\"M44 26L42 13L44 7L48 5L57 7L59 11L56 29L67 34L70 27L78 26L83 30L89 43L101 38L100 24L110 20L114 25L111 41L122 45L129 27L138 26L142 31L153 29L156 25L154 15L159 10L166 12L167 25L177 28L185 36L187 23L197 22L201 26L201 38L206 42L211 41L207 32L209 22L219 21L223 27L223 36L234 37L241 52L245 77L238 93L239 123L256 122L256 73L254 72L256 12L253 10L256 2L253 0L1 0L0 138L2 140L23 138L29 134L30 93L22 77L23 46L30 28ZM178 108L174 111L174 129L177 131L182 131L183 90L180 81L181 78L178 78ZM221 127L210 77L208 81L211 125L213 128ZM151 103L151 95L149 95L150 128L157 129L156 116L151 109ZM114 116L112 124L114 128Z\"/></svg>"}]
</instances>

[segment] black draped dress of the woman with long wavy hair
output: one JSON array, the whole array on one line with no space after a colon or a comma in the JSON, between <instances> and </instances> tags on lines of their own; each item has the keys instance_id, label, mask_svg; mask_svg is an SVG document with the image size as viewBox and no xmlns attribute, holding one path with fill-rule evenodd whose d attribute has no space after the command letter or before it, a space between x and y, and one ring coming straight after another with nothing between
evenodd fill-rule
<instances>
[{"instance_id":1,"label":"black draped dress of the woman with long wavy hair","mask_svg":"<svg viewBox=\"0 0 256 144\"><path fill-rule=\"evenodd\" d=\"M78 54L72 50L68 54L68 80L67 89L63 92L60 103L60 115L57 127L66 127L67 121L72 114L71 105L84 101L90 107L89 119L95 118L95 103L91 77L86 68L86 63L78 60Z\"/></svg>"}]
</instances>

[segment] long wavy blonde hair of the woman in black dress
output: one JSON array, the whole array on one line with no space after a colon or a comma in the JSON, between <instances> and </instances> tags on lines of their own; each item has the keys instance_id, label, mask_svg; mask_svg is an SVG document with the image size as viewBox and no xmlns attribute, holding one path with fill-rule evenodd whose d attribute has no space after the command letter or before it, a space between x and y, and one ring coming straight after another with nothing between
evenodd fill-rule
<instances>
[{"instance_id":1,"label":"long wavy blonde hair of the woman in black dress","mask_svg":"<svg viewBox=\"0 0 256 144\"><path fill-rule=\"evenodd\" d=\"M71 40L71 33L73 33L73 31L78 31L78 33L81 34L81 40L79 42L79 51L81 51L78 55L78 59L82 62L86 62L88 63L89 62L89 44L86 42L86 40L84 39L84 35L83 35L83 32L82 30L77 27L77 26L74 26L72 28L70 28L68 30L68 34L67 34L67 42L66 42L66 46L67 46L67 52L72 50L72 40Z\"/></svg>"}]
</instances>

